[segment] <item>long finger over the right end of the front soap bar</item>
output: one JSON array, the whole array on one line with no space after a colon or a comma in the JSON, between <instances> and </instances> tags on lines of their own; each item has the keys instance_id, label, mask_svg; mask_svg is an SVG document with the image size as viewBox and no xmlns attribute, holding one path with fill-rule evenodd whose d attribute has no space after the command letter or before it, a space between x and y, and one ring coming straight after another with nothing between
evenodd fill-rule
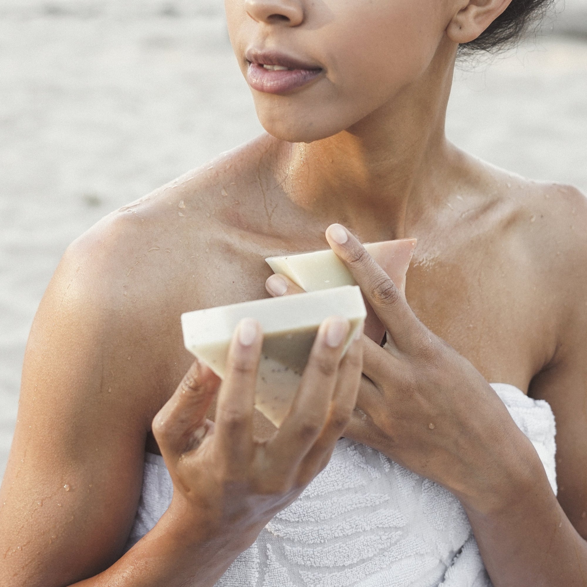
<instances>
[{"instance_id":1,"label":"long finger over the right end of the front soap bar","mask_svg":"<svg viewBox=\"0 0 587 587\"><path fill-rule=\"evenodd\" d=\"M322 432L349 328L349 321L341 316L330 316L320 325L294 403L268 445L268 454L276 466L291 469Z\"/></svg>"}]
</instances>

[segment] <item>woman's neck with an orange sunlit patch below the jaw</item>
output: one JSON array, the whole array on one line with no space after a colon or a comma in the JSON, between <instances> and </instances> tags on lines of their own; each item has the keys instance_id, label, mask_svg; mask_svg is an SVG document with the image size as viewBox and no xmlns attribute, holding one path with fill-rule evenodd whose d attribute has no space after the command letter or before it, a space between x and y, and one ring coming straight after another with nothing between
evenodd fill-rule
<instances>
[{"instance_id":1,"label":"woman's neck with an orange sunlit patch below the jaw","mask_svg":"<svg viewBox=\"0 0 587 587\"><path fill-rule=\"evenodd\" d=\"M446 53L446 52L445 52ZM449 193L444 118L454 54L436 55L413 84L348 130L283 143L279 183L296 204L363 238L401 238Z\"/></svg>"}]
</instances>

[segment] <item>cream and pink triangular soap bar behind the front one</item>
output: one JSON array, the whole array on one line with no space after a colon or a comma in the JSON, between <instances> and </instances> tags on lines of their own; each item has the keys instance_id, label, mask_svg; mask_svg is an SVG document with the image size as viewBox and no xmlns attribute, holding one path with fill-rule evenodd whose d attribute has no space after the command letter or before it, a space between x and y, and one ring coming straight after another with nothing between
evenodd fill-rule
<instances>
[{"instance_id":1,"label":"cream and pink triangular soap bar behind the front one","mask_svg":"<svg viewBox=\"0 0 587 587\"><path fill-rule=\"evenodd\" d=\"M402 238L395 241L370 242L363 246L390 276L394 284L404 291L406 272L416 248L416 239ZM284 257L268 257L265 261L275 273L289 277L306 292L336 288L341 285L356 285L355 279L332 249ZM384 332L384 326L367 303L365 334L379 344Z\"/></svg>"}]
</instances>

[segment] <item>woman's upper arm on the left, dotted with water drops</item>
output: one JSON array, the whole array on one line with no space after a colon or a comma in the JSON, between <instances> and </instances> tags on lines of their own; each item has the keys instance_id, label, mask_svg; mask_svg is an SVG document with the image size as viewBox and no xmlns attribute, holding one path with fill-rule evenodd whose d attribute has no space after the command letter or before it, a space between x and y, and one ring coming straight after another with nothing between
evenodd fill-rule
<instances>
[{"instance_id":1,"label":"woman's upper arm on the left, dotted with water drops","mask_svg":"<svg viewBox=\"0 0 587 587\"><path fill-rule=\"evenodd\" d=\"M110 566L140 495L150 422L132 318L116 267L87 240L66 252L29 336L0 494L6 586L69 585Z\"/></svg>"}]
</instances>

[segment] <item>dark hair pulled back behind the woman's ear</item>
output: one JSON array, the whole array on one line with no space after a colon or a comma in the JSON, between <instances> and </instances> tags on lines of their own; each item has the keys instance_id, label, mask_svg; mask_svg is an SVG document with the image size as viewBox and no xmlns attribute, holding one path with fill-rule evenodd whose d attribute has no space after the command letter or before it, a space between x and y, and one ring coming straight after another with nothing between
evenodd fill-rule
<instances>
[{"instance_id":1,"label":"dark hair pulled back behind the woman's ear","mask_svg":"<svg viewBox=\"0 0 587 587\"><path fill-rule=\"evenodd\" d=\"M510 5L473 41L459 47L461 55L496 53L519 40L532 22L541 22L554 0L511 0ZM538 25L537 25L538 26Z\"/></svg>"}]
</instances>

